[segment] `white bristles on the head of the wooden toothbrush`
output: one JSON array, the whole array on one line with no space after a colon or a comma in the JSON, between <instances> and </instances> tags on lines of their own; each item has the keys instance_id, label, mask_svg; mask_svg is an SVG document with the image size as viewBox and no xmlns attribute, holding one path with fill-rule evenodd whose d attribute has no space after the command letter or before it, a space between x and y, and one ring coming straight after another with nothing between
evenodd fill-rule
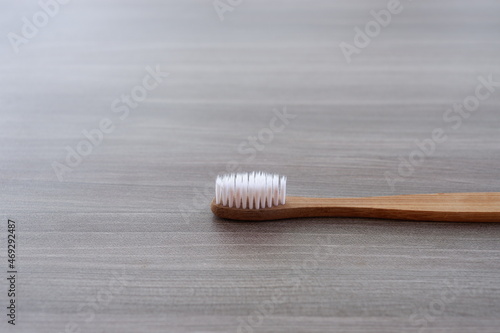
<instances>
[{"instance_id":1,"label":"white bristles on the head of the wooden toothbrush","mask_svg":"<svg viewBox=\"0 0 500 333\"><path fill-rule=\"evenodd\" d=\"M261 209L284 205L286 177L263 172L217 176L215 202L218 205Z\"/></svg>"}]
</instances>

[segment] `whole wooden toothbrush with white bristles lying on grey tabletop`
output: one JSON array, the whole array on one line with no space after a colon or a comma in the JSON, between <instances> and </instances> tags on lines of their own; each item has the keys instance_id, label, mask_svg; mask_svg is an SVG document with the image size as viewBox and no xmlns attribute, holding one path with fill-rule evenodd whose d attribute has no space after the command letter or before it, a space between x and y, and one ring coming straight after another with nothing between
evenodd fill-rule
<instances>
[{"instance_id":1,"label":"whole wooden toothbrush with white bristles lying on grey tabletop","mask_svg":"<svg viewBox=\"0 0 500 333\"><path fill-rule=\"evenodd\" d=\"M263 172L218 176L212 212L266 221L297 217L364 217L414 221L500 222L500 192L412 194L365 198L286 196L286 177Z\"/></svg>"}]
</instances>

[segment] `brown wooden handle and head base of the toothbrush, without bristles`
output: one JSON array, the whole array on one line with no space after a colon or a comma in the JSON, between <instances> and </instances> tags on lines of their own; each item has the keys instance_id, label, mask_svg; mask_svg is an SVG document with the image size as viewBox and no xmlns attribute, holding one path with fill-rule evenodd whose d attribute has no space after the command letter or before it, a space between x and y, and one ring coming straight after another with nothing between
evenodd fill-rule
<instances>
[{"instance_id":1,"label":"brown wooden handle and head base of the toothbrush, without bristles","mask_svg":"<svg viewBox=\"0 0 500 333\"><path fill-rule=\"evenodd\" d=\"M500 193L438 193L367 198L287 197L286 204L260 210L223 209L220 217L278 220L296 217L364 217L452 222L500 222Z\"/></svg>"}]
</instances>

